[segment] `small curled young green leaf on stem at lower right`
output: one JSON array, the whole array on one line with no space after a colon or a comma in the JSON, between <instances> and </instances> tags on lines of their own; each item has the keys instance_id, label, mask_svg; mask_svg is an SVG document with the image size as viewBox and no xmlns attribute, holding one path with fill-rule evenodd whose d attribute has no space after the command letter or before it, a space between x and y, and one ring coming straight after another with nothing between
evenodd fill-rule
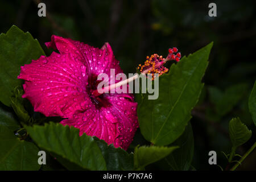
<instances>
[{"instance_id":1,"label":"small curled young green leaf on stem at lower right","mask_svg":"<svg viewBox=\"0 0 256 182\"><path fill-rule=\"evenodd\" d=\"M247 129L247 126L241 122L240 118L233 118L229 122L229 137L232 146L237 148L251 138L251 130Z\"/></svg>"}]
</instances>

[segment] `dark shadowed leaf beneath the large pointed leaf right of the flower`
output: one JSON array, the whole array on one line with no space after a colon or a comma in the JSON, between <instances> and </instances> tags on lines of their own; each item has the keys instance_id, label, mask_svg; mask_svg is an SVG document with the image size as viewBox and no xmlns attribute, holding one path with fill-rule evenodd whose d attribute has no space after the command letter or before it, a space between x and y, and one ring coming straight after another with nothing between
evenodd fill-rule
<instances>
[{"instance_id":1,"label":"dark shadowed leaf beneath the large pointed leaf right of the flower","mask_svg":"<svg viewBox=\"0 0 256 182\"><path fill-rule=\"evenodd\" d=\"M190 122L187 125L184 133L172 144L174 146L179 146L179 148L164 159L172 170L189 170L194 154L194 138Z\"/></svg>"}]
</instances>

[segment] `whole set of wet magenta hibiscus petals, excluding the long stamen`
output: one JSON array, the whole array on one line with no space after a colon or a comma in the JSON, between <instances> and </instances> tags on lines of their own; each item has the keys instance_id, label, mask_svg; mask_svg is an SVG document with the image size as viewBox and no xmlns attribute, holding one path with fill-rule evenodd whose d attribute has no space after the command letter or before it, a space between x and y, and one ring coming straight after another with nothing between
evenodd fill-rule
<instances>
[{"instance_id":1,"label":"whole set of wet magenta hibiscus petals, excluding the long stamen","mask_svg":"<svg viewBox=\"0 0 256 182\"><path fill-rule=\"evenodd\" d=\"M132 94L92 95L97 76L110 69L122 73L108 43L99 49L53 35L47 47L59 50L21 67L23 98L47 117L59 116L63 125L127 150L138 127L137 103ZM118 81L116 81L118 82Z\"/></svg>"}]
</instances>

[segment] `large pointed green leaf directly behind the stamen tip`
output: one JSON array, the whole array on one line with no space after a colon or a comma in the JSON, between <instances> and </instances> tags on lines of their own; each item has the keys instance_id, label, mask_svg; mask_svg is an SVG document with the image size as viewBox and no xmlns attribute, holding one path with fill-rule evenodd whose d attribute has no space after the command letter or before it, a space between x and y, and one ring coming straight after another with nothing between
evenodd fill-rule
<instances>
[{"instance_id":1,"label":"large pointed green leaf directly behind the stamen tip","mask_svg":"<svg viewBox=\"0 0 256 182\"><path fill-rule=\"evenodd\" d=\"M156 145L174 142L185 130L191 109L199 100L208 57L213 43L172 64L168 74L159 77L157 100L143 98L138 119L143 137Z\"/></svg>"}]
</instances>

